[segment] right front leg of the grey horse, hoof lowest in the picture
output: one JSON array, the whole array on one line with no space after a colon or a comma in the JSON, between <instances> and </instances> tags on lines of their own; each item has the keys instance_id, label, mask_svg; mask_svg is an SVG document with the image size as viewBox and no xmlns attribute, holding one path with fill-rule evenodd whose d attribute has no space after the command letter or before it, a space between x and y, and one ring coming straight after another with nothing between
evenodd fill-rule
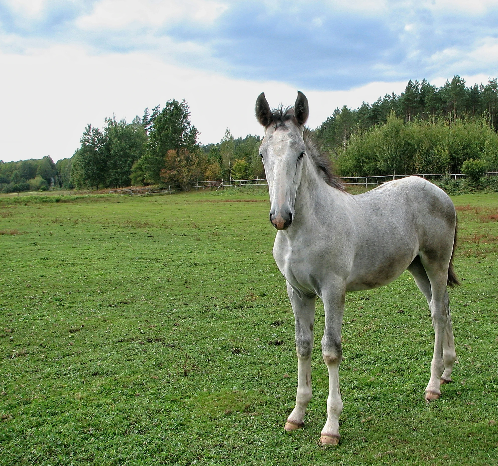
<instances>
[{"instance_id":1,"label":"right front leg of the grey horse, hoof lowest in the picture","mask_svg":"<svg viewBox=\"0 0 498 466\"><path fill-rule=\"evenodd\" d=\"M329 371L329 396L327 398L327 422L320 434L323 445L337 445L339 416L343 410L339 389L339 365L342 360L341 327L344 314L345 291L323 297L325 307L325 332L322 338L322 355Z\"/></svg>"}]
</instances>

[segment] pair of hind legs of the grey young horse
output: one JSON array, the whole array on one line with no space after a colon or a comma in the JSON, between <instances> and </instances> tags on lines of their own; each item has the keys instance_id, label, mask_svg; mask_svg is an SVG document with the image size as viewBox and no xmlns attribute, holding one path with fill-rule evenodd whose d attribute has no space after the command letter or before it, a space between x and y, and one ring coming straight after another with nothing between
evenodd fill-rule
<instances>
[{"instance_id":1,"label":"pair of hind legs of the grey young horse","mask_svg":"<svg viewBox=\"0 0 498 466\"><path fill-rule=\"evenodd\" d=\"M422 257L422 261L425 278L419 267L414 267L413 270L417 274L417 285L429 303L434 328L431 376L425 389L425 399L430 401L437 400L441 395L441 384L451 382L451 371L456 360L456 353L447 291L447 267L442 266L442 261L431 261L427 256ZM430 284L430 295L427 293L427 281Z\"/></svg>"}]
</instances>

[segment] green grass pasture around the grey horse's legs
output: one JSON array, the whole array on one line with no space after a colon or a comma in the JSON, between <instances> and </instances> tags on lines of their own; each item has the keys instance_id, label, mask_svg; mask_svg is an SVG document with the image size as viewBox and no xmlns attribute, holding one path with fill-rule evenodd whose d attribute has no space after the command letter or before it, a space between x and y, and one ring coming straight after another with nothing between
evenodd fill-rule
<instances>
[{"instance_id":1,"label":"green grass pasture around the grey horse's legs","mask_svg":"<svg viewBox=\"0 0 498 466\"><path fill-rule=\"evenodd\" d=\"M454 383L424 402L433 331L404 273L348 294L339 446L323 307L305 427L263 192L0 197L1 465L498 464L498 194L459 209Z\"/></svg>"}]
</instances>

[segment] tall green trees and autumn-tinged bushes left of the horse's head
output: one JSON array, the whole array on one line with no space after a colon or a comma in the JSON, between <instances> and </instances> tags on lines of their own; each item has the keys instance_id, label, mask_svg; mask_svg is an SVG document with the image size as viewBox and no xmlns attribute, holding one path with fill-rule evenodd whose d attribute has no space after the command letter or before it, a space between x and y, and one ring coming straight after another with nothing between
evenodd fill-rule
<instances>
[{"instance_id":1,"label":"tall green trees and autumn-tinged bushes left of the horse's head","mask_svg":"<svg viewBox=\"0 0 498 466\"><path fill-rule=\"evenodd\" d=\"M170 183L188 190L202 179L262 175L258 136L235 139L227 129L220 143L207 146L198 137L185 100L145 109L130 124L108 118L102 131L85 129L70 181L77 188Z\"/></svg>"}]
</instances>

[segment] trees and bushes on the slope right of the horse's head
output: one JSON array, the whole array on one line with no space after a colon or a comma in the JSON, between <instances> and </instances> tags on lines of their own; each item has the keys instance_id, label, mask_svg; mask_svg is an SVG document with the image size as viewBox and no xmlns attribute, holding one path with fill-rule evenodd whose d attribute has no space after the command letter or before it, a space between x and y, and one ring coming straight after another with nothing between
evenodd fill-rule
<instances>
[{"instance_id":1,"label":"trees and bushes on the slope right of the horse's head","mask_svg":"<svg viewBox=\"0 0 498 466\"><path fill-rule=\"evenodd\" d=\"M342 176L457 173L465 160L498 170L498 85L465 86L454 76L437 88L408 81L405 92L336 108L315 136Z\"/></svg>"}]
</instances>

